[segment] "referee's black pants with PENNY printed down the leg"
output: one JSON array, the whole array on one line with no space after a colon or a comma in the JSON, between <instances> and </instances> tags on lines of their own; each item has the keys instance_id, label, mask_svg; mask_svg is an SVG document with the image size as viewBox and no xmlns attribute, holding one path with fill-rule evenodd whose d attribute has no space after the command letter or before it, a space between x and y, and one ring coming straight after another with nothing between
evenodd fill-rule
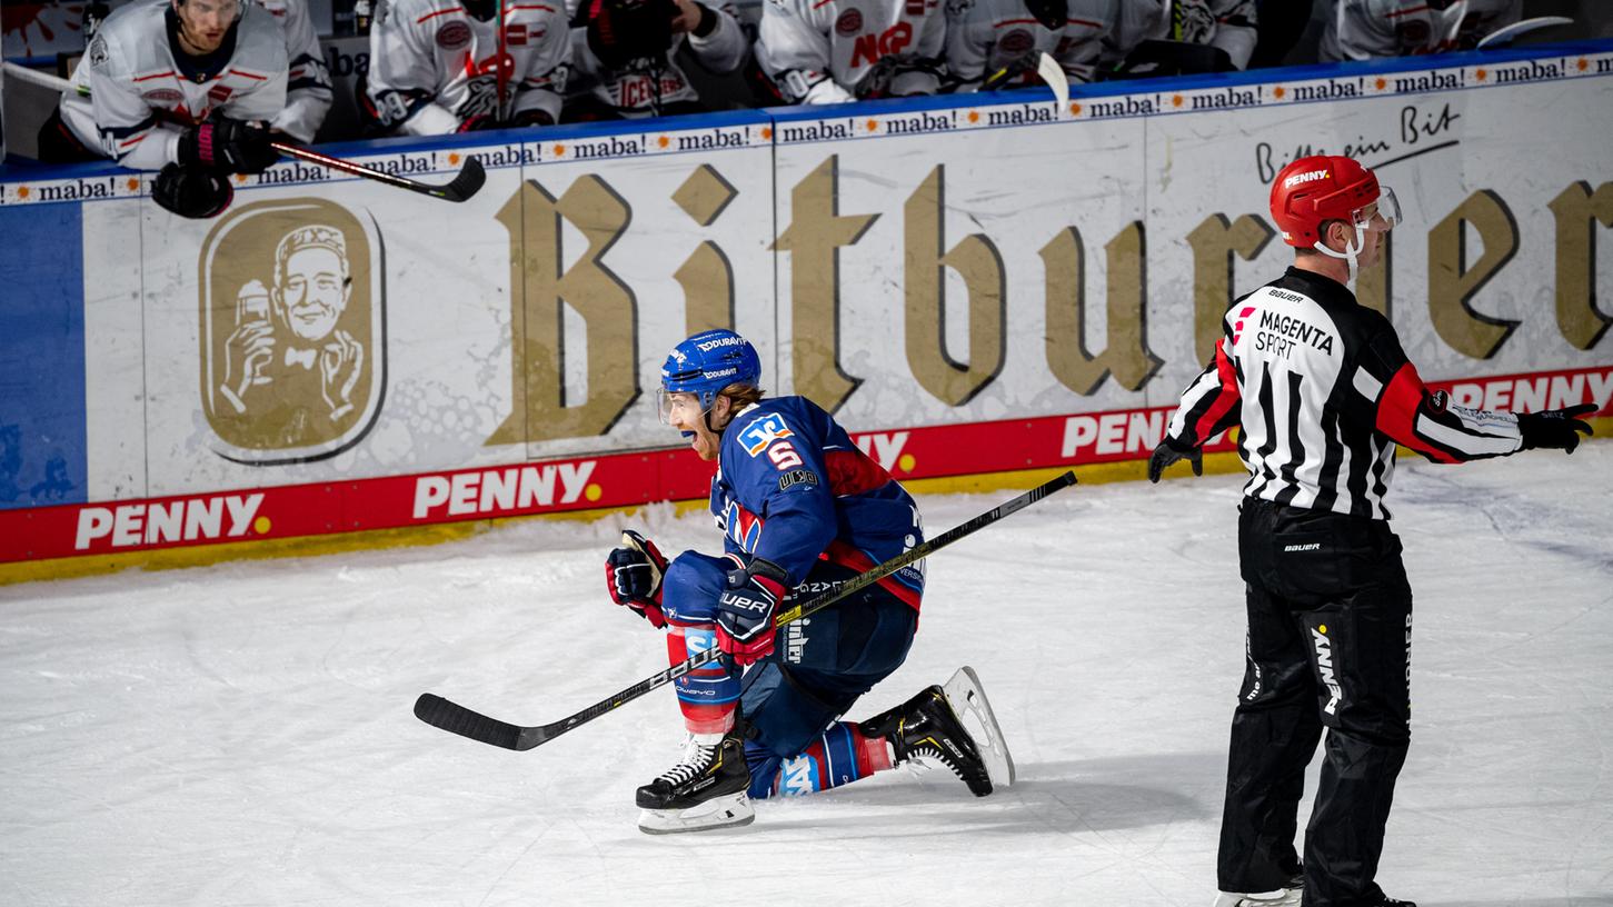
<instances>
[{"instance_id":1,"label":"referee's black pants with PENNY printed down the leg","mask_svg":"<svg viewBox=\"0 0 1613 907\"><path fill-rule=\"evenodd\" d=\"M1221 891L1298 870L1305 765L1327 728L1305 830L1305 905L1376 904L1384 825L1411 739L1411 587L1382 520L1244 499L1244 688L1232 715Z\"/></svg>"}]
</instances>

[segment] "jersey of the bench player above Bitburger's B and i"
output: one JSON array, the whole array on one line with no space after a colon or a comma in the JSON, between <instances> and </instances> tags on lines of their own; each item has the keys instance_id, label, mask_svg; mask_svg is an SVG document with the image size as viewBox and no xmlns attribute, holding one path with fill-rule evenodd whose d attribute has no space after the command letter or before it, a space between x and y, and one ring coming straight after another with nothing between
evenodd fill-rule
<instances>
[{"instance_id":1,"label":"jersey of the bench player above Bitburger's B and i","mask_svg":"<svg viewBox=\"0 0 1613 907\"><path fill-rule=\"evenodd\" d=\"M589 48L587 29L573 29L571 60L576 79L573 90L579 95L594 95L602 105L629 119L658 116L668 105L698 103L700 94L677 65L677 50L687 44L702 66L723 74L739 69L750 47L732 13L715 6L708 10L716 16L711 34L705 37L697 37L694 32L676 34L665 58L639 60L623 69L606 69Z\"/></svg>"}]
</instances>

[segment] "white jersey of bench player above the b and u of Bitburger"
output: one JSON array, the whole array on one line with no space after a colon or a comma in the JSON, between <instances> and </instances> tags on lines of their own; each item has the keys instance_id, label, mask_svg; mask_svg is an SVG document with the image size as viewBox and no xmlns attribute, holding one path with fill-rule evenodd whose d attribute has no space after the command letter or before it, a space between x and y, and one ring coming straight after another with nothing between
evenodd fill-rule
<instances>
[{"instance_id":1,"label":"white jersey of bench player above the b and u of Bitburger","mask_svg":"<svg viewBox=\"0 0 1613 907\"><path fill-rule=\"evenodd\" d=\"M1047 53L1074 81L1090 82L1105 37L1115 31L1121 0L1069 0L1065 24L1048 29L1024 0L948 0L947 74L960 90L981 82L1026 53ZM1027 71L1016 86L1031 84Z\"/></svg>"}]
</instances>

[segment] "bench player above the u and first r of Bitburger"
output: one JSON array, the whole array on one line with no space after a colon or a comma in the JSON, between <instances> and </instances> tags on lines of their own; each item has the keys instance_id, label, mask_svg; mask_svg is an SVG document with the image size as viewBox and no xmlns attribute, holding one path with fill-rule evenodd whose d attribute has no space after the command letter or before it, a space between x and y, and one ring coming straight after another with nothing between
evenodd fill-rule
<instances>
[{"instance_id":1,"label":"bench player above the u and first r of Bitburger","mask_svg":"<svg viewBox=\"0 0 1613 907\"><path fill-rule=\"evenodd\" d=\"M1257 21L1255 0L1121 0L1105 60L1134 76L1244 69Z\"/></svg>"}]
</instances>

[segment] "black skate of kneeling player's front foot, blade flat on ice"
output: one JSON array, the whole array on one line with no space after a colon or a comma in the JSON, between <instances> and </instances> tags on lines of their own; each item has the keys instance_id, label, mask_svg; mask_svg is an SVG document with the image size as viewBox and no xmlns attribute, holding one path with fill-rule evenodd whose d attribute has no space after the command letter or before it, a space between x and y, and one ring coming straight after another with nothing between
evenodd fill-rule
<instances>
[{"instance_id":1,"label":"black skate of kneeling player's front foot, blade flat on ice","mask_svg":"<svg viewBox=\"0 0 1613 907\"><path fill-rule=\"evenodd\" d=\"M750 825L756 810L747 788L750 767L737 736L727 734L715 746L689 738L684 760L639 788L636 800L644 809L639 830L671 834Z\"/></svg>"}]
</instances>

